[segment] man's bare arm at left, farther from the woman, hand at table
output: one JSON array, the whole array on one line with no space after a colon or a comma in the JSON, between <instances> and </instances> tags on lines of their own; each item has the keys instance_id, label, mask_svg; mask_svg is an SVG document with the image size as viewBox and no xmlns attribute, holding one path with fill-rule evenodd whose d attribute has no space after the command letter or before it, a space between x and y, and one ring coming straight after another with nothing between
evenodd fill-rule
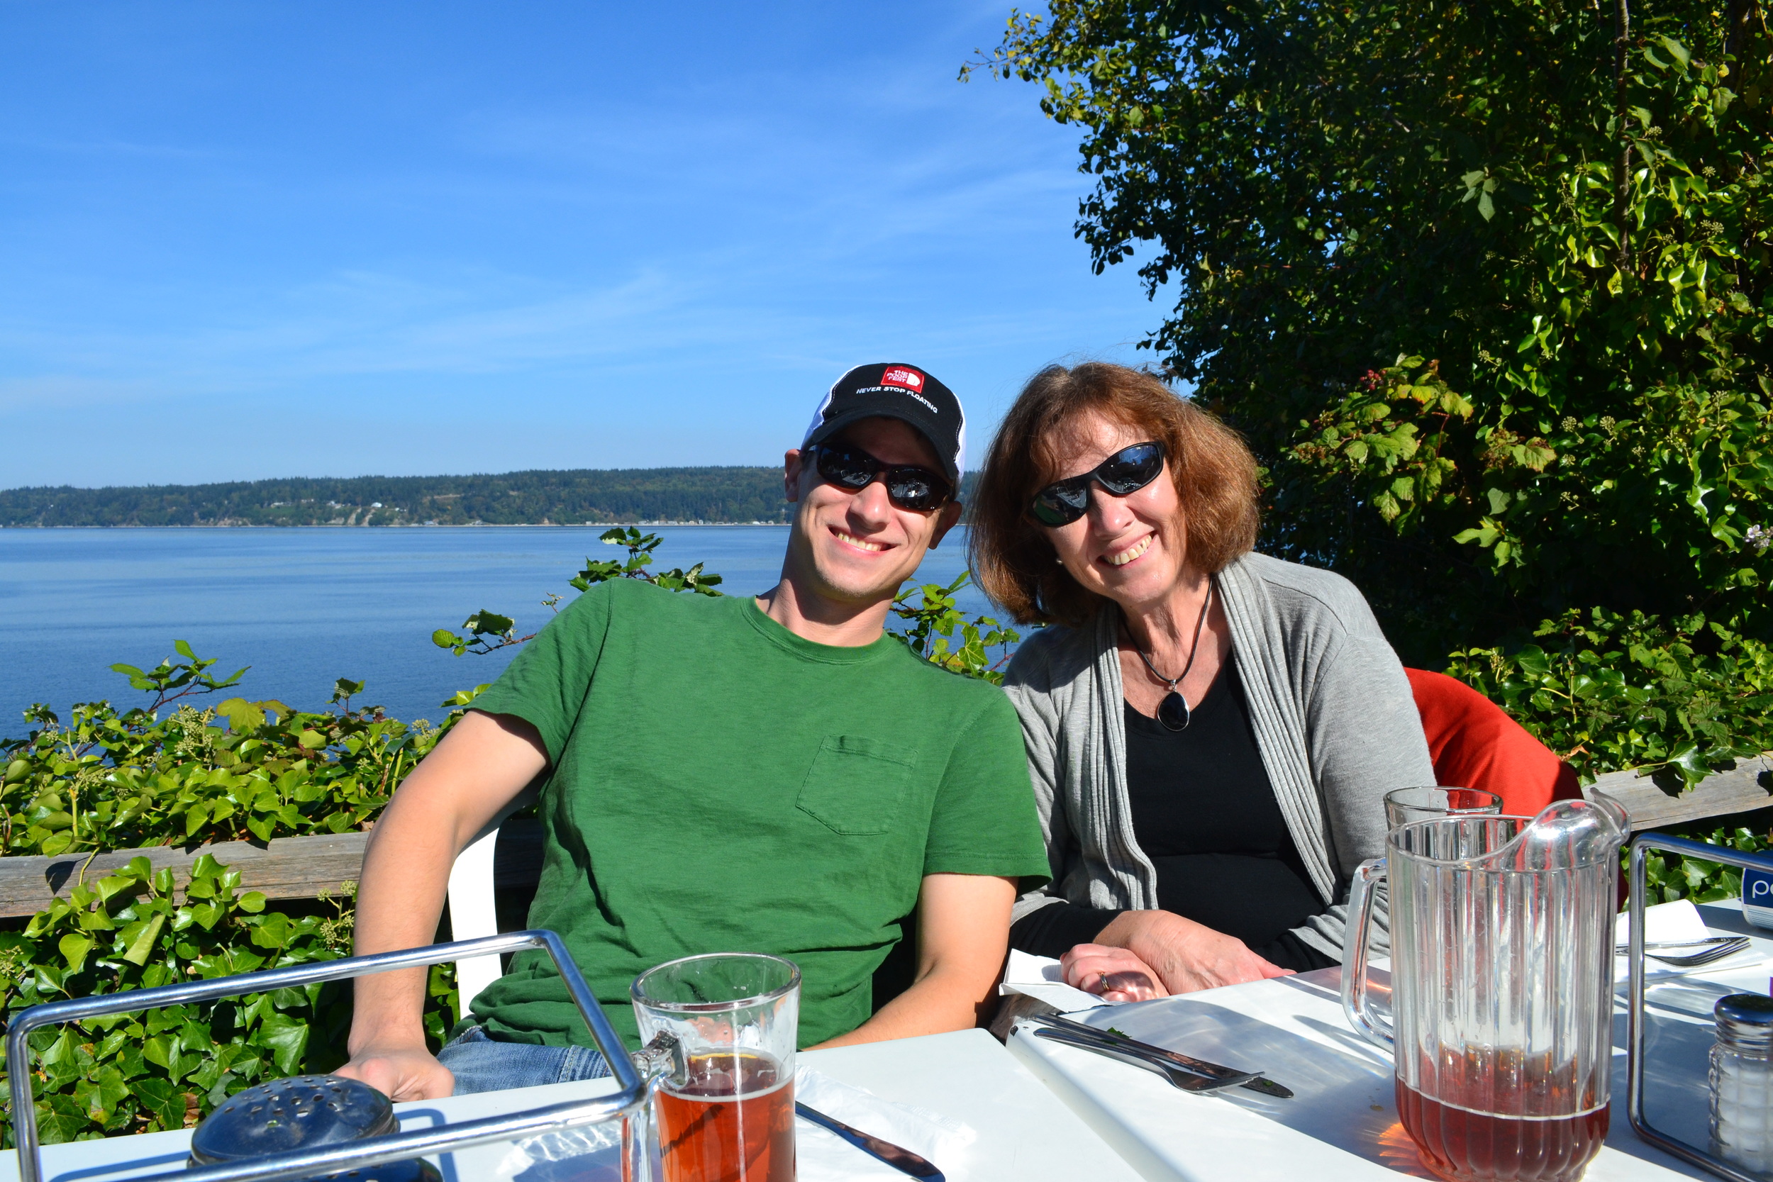
<instances>
[{"instance_id":1,"label":"man's bare arm at left, farther from the woman, hand at table","mask_svg":"<svg viewBox=\"0 0 1773 1182\"><path fill-rule=\"evenodd\" d=\"M355 952L429 945L456 854L543 769L541 735L512 714L470 711L388 801L363 852ZM433 1100L454 1079L426 1051L426 969L356 978L351 1061L340 1076L395 1100Z\"/></svg>"}]
</instances>

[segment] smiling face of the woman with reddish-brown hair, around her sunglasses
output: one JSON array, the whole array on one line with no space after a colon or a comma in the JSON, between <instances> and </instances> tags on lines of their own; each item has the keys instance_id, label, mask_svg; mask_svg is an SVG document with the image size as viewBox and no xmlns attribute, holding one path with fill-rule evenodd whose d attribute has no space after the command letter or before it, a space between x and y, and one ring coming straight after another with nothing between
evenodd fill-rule
<instances>
[{"instance_id":1,"label":"smiling face of the woman with reddish-brown hair, around her sunglasses","mask_svg":"<svg viewBox=\"0 0 1773 1182\"><path fill-rule=\"evenodd\" d=\"M1057 441L1053 478L1083 475L1147 438L1138 427L1085 411ZM1161 603L1191 574L1188 523L1168 464L1156 480L1126 496L1113 496L1092 482L1089 512L1071 525L1041 528L1071 578L1133 615Z\"/></svg>"}]
</instances>

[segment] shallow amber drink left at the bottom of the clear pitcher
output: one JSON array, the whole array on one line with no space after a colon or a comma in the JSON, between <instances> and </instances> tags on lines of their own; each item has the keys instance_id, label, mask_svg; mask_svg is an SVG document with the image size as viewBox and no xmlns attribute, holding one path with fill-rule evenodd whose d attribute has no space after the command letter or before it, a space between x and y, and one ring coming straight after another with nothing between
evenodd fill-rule
<instances>
[{"instance_id":1,"label":"shallow amber drink left at the bottom of the clear pitcher","mask_svg":"<svg viewBox=\"0 0 1773 1182\"><path fill-rule=\"evenodd\" d=\"M1574 1116L1498 1116L1433 1100L1402 1079L1397 1115L1422 1164L1456 1182L1571 1182L1606 1139L1606 1104Z\"/></svg>"}]
</instances>

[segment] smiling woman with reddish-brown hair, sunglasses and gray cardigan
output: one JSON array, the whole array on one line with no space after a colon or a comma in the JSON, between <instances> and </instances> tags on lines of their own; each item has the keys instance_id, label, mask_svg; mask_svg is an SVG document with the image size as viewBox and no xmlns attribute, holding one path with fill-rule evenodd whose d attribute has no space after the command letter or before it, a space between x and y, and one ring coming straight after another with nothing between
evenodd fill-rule
<instances>
[{"instance_id":1,"label":"smiling woman with reddish-brown hair, sunglasses and gray cardigan","mask_svg":"<svg viewBox=\"0 0 1773 1182\"><path fill-rule=\"evenodd\" d=\"M1367 601L1252 553L1255 461L1151 374L1050 367L972 507L972 567L1032 634L1021 712L1053 883L1011 943L1115 1001L1326 968L1381 797L1434 783Z\"/></svg>"}]
</instances>

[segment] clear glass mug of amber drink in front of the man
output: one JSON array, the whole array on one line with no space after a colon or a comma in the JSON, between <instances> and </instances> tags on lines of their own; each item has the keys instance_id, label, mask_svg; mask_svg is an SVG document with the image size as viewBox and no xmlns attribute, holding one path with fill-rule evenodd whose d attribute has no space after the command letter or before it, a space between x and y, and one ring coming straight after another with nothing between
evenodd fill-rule
<instances>
[{"instance_id":1,"label":"clear glass mug of amber drink in front of the man","mask_svg":"<svg viewBox=\"0 0 1773 1182\"><path fill-rule=\"evenodd\" d=\"M638 1058L668 1049L647 1072L663 1182L794 1182L800 969L716 952L647 969L629 994Z\"/></svg>"}]
</instances>

